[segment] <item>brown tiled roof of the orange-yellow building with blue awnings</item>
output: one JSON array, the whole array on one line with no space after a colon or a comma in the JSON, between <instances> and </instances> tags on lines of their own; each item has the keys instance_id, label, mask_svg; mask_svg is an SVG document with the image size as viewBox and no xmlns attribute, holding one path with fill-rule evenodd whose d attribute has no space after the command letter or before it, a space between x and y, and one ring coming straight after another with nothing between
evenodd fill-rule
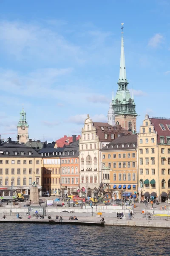
<instances>
[{"instance_id":1,"label":"brown tiled roof of the orange-yellow building with blue awnings","mask_svg":"<svg viewBox=\"0 0 170 256\"><path fill-rule=\"evenodd\" d=\"M135 143L135 146L133 144ZM122 148L122 144L124 144L124 147ZM118 147L117 147L118 145ZM127 146L129 145L129 147ZM125 149L132 149L132 148L137 148L137 134L133 135L126 135L122 137L118 137L115 140L113 140L111 143L107 144L102 150L125 150Z\"/></svg>"}]
</instances>

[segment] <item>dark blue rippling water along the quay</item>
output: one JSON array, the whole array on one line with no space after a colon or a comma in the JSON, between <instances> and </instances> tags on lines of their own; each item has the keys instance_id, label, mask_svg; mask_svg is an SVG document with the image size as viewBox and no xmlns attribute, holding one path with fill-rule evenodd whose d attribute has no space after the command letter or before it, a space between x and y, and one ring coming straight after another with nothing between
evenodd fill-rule
<instances>
[{"instance_id":1,"label":"dark blue rippling water along the quay","mask_svg":"<svg viewBox=\"0 0 170 256\"><path fill-rule=\"evenodd\" d=\"M0 256L170 255L168 229L0 223Z\"/></svg>"}]
</instances>

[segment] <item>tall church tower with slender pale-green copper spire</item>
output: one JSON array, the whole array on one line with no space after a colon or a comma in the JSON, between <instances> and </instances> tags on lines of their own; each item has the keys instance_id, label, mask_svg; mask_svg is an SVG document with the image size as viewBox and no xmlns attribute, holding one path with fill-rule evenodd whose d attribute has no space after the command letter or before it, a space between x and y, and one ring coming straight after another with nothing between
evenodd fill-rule
<instances>
[{"instance_id":1,"label":"tall church tower with slender pale-green copper spire","mask_svg":"<svg viewBox=\"0 0 170 256\"><path fill-rule=\"evenodd\" d=\"M113 100L113 110L115 113L116 124L121 125L129 131L136 131L136 110L135 102L130 96L127 89L126 66L125 66L125 52L123 41L123 23L122 23L122 40L121 40L121 55L120 55L120 73L117 82L118 90Z\"/></svg>"}]
</instances>

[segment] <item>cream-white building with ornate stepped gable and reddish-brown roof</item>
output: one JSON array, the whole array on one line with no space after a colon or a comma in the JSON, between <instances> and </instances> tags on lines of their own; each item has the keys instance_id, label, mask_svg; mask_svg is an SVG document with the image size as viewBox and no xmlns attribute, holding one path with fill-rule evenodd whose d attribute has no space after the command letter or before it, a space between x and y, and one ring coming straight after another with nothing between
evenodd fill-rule
<instances>
[{"instance_id":1,"label":"cream-white building with ornate stepped gable and reddish-brown roof","mask_svg":"<svg viewBox=\"0 0 170 256\"><path fill-rule=\"evenodd\" d=\"M89 115L85 119L79 140L80 188L83 195L94 197L102 182L100 149L127 131L120 125L93 122Z\"/></svg>"}]
</instances>

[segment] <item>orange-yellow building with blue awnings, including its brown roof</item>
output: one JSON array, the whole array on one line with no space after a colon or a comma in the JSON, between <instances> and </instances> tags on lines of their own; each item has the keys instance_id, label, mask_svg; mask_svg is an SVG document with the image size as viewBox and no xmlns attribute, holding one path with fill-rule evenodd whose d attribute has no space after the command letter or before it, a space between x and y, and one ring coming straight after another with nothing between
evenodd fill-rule
<instances>
[{"instance_id":1,"label":"orange-yellow building with blue awnings, including its brown roof","mask_svg":"<svg viewBox=\"0 0 170 256\"><path fill-rule=\"evenodd\" d=\"M121 134L124 135L124 134ZM118 137L101 149L102 183L114 198L137 195L137 135Z\"/></svg>"}]
</instances>

